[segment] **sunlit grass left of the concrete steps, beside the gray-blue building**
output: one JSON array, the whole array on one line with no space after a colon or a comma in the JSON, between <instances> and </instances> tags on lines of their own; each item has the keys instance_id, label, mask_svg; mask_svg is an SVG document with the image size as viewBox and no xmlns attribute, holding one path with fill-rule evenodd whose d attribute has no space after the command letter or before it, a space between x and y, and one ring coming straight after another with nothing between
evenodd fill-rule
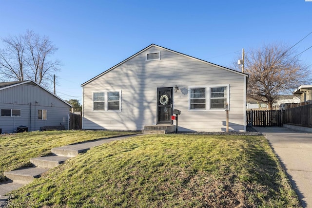
<instances>
[{"instance_id":1,"label":"sunlit grass left of the concrete steps, beside the gray-blue building","mask_svg":"<svg viewBox=\"0 0 312 208\"><path fill-rule=\"evenodd\" d=\"M30 158L51 153L51 149L78 142L108 138L134 132L48 131L0 135L0 182L3 172L30 166Z\"/></svg>"}]
</instances>

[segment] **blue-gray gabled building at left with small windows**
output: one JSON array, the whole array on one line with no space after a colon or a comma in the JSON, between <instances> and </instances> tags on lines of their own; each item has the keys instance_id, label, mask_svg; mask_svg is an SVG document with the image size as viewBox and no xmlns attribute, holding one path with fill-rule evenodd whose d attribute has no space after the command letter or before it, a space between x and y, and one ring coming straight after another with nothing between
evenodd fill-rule
<instances>
[{"instance_id":1,"label":"blue-gray gabled building at left with small windows","mask_svg":"<svg viewBox=\"0 0 312 208\"><path fill-rule=\"evenodd\" d=\"M70 108L70 104L34 81L0 83L2 133L37 131L43 126L63 125L68 129Z\"/></svg>"}]
</instances>

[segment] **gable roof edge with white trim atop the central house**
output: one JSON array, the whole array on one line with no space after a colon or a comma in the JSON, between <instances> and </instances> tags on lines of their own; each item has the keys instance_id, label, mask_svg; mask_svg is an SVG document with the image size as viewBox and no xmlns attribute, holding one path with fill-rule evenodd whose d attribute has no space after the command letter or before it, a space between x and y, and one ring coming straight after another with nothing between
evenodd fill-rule
<instances>
[{"instance_id":1,"label":"gable roof edge with white trim atop the central house","mask_svg":"<svg viewBox=\"0 0 312 208\"><path fill-rule=\"evenodd\" d=\"M217 65L217 64L214 64L214 63L211 63L211 62L208 62L208 61L199 59L199 58L191 57L191 56L188 56L188 55L185 55L185 54L182 54L182 53L179 53L179 52L170 50L170 49L168 49L168 48L161 47L161 46L156 45L156 44L151 44L151 45L149 45L148 47L146 47L146 48L142 49L141 51L137 52L135 55L133 55L133 56L131 56L131 57L129 57L129 58L127 58L127 59L121 61L120 63L116 64L116 65L113 66L112 68L110 68L110 69L104 71L103 73L99 74L98 76L95 76L95 77L93 77L92 79L90 79L90 80L88 80L88 81L82 83L80 86L83 87L84 85L88 84L89 82L91 82L91 81L97 79L97 78L100 77L100 76L103 76L104 74L110 72L111 70L113 70L113 69L115 69L116 67L120 66L120 65L123 64L124 62L126 62L126 61L128 61L129 59L131 59L131 58L137 56L138 54L140 54L140 53L142 53L142 52L148 50L148 49L151 48L151 47L156 47L156 48L159 48L159 49L163 49L163 50L166 50L166 51L170 51L170 52L172 52L172 53L175 53L175 54L178 54L178 55L181 55L181 56L184 56L184 57L189 57L189 58L198 60L198 61L203 62L203 63L211 64L211 65L213 65L213 66L215 66L215 67L218 67L218 68L220 68L220 69L224 69L224 70L227 70L227 71L230 71L230 72L233 72L233 73L236 73L236 74L239 74L239 75L247 76L247 77L248 77L247 74L244 74L244 73L235 71L235 70L233 70L233 69L229 69L229 68L226 68L226 67L223 67L223 66L220 66L220 65Z\"/></svg>"}]
</instances>

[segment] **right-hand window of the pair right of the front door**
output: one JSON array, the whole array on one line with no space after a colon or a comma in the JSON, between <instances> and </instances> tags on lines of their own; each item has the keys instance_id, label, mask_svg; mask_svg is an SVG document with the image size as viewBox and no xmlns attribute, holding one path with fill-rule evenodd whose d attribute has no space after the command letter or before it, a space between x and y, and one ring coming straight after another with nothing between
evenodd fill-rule
<instances>
[{"instance_id":1,"label":"right-hand window of the pair right of the front door","mask_svg":"<svg viewBox=\"0 0 312 208\"><path fill-rule=\"evenodd\" d=\"M225 109L227 104L227 87L210 88L210 109Z\"/></svg>"}]
</instances>

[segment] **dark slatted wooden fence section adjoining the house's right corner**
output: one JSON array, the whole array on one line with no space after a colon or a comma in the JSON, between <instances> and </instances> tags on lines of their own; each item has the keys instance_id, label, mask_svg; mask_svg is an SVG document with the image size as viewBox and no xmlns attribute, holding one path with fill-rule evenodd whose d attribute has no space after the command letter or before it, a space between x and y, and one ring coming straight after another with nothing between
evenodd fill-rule
<instances>
[{"instance_id":1,"label":"dark slatted wooden fence section adjoining the house's right corner","mask_svg":"<svg viewBox=\"0 0 312 208\"><path fill-rule=\"evenodd\" d=\"M247 126L282 126L283 125L283 111L246 111L246 125Z\"/></svg>"}]
</instances>

